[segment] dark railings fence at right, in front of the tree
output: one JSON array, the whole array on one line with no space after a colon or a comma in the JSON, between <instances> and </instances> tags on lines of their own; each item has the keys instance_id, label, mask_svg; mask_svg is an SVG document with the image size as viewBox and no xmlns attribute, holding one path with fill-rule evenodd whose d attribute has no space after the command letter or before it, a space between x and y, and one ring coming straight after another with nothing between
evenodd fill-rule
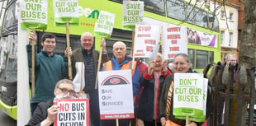
<instances>
[{"instance_id":1,"label":"dark railings fence at right, in front of the tree","mask_svg":"<svg viewBox=\"0 0 256 126\"><path fill-rule=\"evenodd\" d=\"M244 66L211 63L204 70L205 76L210 68L208 86L213 105L208 126L255 126L255 66L245 69Z\"/></svg>"}]
</instances>

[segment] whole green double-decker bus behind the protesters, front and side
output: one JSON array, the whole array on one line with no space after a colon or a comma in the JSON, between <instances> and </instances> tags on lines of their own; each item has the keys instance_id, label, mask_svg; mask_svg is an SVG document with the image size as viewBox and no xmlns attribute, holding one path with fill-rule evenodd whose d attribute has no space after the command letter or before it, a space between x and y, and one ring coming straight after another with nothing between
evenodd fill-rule
<instances>
[{"instance_id":1,"label":"whole green double-decker bus behind the protesters, front and side","mask_svg":"<svg viewBox=\"0 0 256 126\"><path fill-rule=\"evenodd\" d=\"M17 18L16 1L7 0L6 12L3 16L0 35L0 79L3 82L17 82ZM111 39L107 40L107 52L112 56L112 44L116 40L126 43L127 54L132 48L132 31L124 30L122 27L122 0L78 0L79 6L79 26L69 26L69 40L72 49L80 47L80 35L89 31L93 33L94 24L97 21L100 11L116 14L116 21ZM44 32L55 33L58 37L56 54L64 55L66 49L66 27L55 26L55 16L53 0L48 0L48 26L47 29L36 32L38 38ZM3 8L3 7L2 7ZM187 27L187 54L192 60L192 68L202 72L207 63L220 61L220 28L216 16L212 12L207 12L197 5L192 5L184 0L144 0L144 22L152 25L174 25ZM197 35L196 35L197 34ZM193 40L188 40L191 36ZM200 36L200 43L197 36ZM100 49L99 36L95 36L93 48ZM37 50L40 51L40 40L36 41ZM12 77L11 81L7 77ZM8 82L9 81L9 82ZM0 82L0 84L2 85ZM11 85L10 84L10 85ZM8 85L8 86L10 86ZM15 87L15 86L14 86ZM16 86L17 87L17 86ZM17 90L17 89L16 89ZM2 90L3 91L3 90ZM1 92L2 92L1 91ZM2 94L2 93L1 93ZM5 97L13 101L12 105L0 100L0 109L5 111L13 119L17 119L17 103L15 93Z\"/></svg>"}]
</instances>

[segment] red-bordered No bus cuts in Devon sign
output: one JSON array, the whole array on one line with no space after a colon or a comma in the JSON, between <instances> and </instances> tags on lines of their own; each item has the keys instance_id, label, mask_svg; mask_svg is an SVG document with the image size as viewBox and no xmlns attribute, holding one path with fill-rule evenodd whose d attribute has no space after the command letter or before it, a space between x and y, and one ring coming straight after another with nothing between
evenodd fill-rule
<instances>
[{"instance_id":1,"label":"red-bordered No bus cuts in Devon sign","mask_svg":"<svg viewBox=\"0 0 256 126\"><path fill-rule=\"evenodd\" d=\"M88 99L55 100L55 105L59 105L58 114L55 118L55 126L89 126L88 104Z\"/></svg>"}]
</instances>

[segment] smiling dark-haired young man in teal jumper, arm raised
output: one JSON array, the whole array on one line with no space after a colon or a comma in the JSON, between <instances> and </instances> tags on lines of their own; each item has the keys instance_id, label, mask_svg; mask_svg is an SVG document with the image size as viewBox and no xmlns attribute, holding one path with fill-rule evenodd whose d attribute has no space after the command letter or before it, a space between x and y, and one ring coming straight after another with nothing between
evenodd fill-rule
<instances>
[{"instance_id":1,"label":"smiling dark-haired young man in teal jumper, arm raised","mask_svg":"<svg viewBox=\"0 0 256 126\"><path fill-rule=\"evenodd\" d=\"M31 30L30 41L36 41L35 33ZM55 97L53 92L56 82L67 77L68 72L68 66L64 62L64 58L54 52L56 36L51 33L45 33L42 35L41 45L43 46L41 52L39 54L35 53L36 85L35 96L31 98L31 114L36 110L39 102L45 102ZM26 50L29 67L31 68L31 44L26 45ZM70 53L67 54L70 55Z\"/></svg>"}]
</instances>

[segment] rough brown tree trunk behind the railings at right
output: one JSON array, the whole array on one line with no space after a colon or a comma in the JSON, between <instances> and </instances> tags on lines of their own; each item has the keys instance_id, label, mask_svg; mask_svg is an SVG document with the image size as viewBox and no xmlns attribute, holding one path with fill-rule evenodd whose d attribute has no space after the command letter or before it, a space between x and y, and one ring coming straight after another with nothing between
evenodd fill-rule
<instances>
[{"instance_id":1,"label":"rough brown tree trunk behind the railings at right","mask_svg":"<svg viewBox=\"0 0 256 126\"><path fill-rule=\"evenodd\" d=\"M239 67L240 72L244 71L244 74L239 74L239 83L235 84L235 94L239 94L239 90L243 95L249 95L251 91L251 76L248 70L256 66L256 1L245 0L244 1L244 21L243 30L241 35L240 53L239 53ZM238 79L236 79L238 80ZM238 100L233 100L230 110L230 126L244 125L244 119L247 112L248 100L239 103ZM239 119L237 118L237 109L242 110Z\"/></svg>"}]
</instances>

